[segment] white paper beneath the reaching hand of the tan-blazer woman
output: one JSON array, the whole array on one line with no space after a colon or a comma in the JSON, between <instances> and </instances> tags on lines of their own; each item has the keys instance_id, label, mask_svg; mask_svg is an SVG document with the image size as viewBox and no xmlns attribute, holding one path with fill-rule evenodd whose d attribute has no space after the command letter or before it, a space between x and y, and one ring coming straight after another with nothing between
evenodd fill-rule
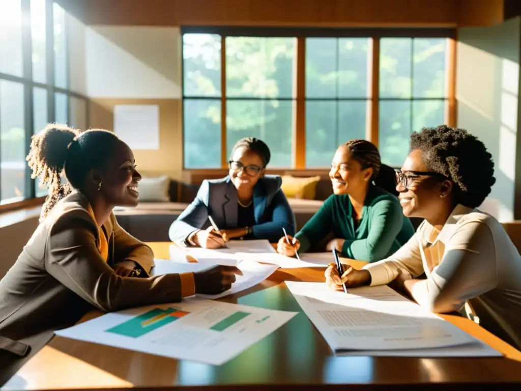
<instances>
[{"instance_id":1,"label":"white paper beneath the reaching hand of the tan-blazer woman","mask_svg":"<svg viewBox=\"0 0 521 391\"><path fill-rule=\"evenodd\" d=\"M182 263L164 259L155 259L155 266L152 269L152 275L169 274L169 273L190 273L200 272L214 264L203 262ZM279 267L276 265L263 265L254 261L241 260L237 263L237 267L243 273L235 276L235 282L231 285L231 289L222 292L219 295L197 295L208 299L218 299L242 290L249 289L257 284L262 283L266 278L272 275Z\"/></svg>"}]
</instances>

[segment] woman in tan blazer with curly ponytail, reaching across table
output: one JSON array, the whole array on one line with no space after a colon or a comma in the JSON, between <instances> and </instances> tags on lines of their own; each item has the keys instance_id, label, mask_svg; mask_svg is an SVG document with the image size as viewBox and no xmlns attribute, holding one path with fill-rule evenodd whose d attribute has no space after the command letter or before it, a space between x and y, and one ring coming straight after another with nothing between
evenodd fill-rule
<instances>
[{"instance_id":1,"label":"woman in tan blazer with curly ponytail, reaching across table","mask_svg":"<svg viewBox=\"0 0 521 391\"><path fill-rule=\"evenodd\" d=\"M49 186L40 225L0 280L0 368L40 349L89 309L117 311L231 287L236 268L150 276L154 254L117 223L115 206L139 203L134 156L111 132L48 125L27 157ZM61 182L65 174L68 184ZM11 365L12 366L12 365ZM0 380L1 380L0 376ZM1 383L0 383L1 384Z\"/></svg>"}]
</instances>

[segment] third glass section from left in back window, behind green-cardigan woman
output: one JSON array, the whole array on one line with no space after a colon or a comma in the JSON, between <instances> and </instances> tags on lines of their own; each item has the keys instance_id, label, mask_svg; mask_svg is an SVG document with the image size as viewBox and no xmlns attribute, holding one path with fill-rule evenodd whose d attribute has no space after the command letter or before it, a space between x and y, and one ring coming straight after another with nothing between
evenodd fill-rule
<instances>
[{"instance_id":1,"label":"third glass section from left in back window, behind green-cardigan woman","mask_svg":"<svg viewBox=\"0 0 521 391\"><path fill-rule=\"evenodd\" d=\"M338 145L363 139L367 38L306 39L306 167L327 167Z\"/></svg>"}]
</instances>

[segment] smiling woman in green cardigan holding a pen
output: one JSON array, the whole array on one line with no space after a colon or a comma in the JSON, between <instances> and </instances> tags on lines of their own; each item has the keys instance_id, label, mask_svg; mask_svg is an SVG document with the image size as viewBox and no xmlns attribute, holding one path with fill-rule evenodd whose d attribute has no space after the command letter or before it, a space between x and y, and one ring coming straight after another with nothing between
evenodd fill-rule
<instances>
[{"instance_id":1,"label":"smiling woman in green cardigan holding a pen","mask_svg":"<svg viewBox=\"0 0 521 391\"><path fill-rule=\"evenodd\" d=\"M277 251L287 256L306 252L331 231L334 239L326 249L336 248L352 259L376 262L402 247L414 228L398 198L374 185L380 166L373 143L350 140L341 145L329 172L333 194L294 238L280 238Z\"/></svg>"}]
</instances>

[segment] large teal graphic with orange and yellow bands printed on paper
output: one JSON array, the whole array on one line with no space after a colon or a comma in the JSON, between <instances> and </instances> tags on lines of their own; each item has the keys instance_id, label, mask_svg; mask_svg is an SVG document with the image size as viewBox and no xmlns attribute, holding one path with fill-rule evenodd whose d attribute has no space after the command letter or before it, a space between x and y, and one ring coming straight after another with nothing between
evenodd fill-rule
<instances>
[{"instance_id":1,"label":"large teal graphic with orange and yellow bands printed on paper","mask_svg":"<svg viewBox=\"0 0 521 391\"><path fill-rule=\"evenodd\" d=\"M159 327L175 322L180 317L188 315L189 313L190 312L181 311L179 308L167 308L165 310L154 308L125 323L109 328L106 332L131 338L139 338Z\"/></svg>"}]
</instances>

